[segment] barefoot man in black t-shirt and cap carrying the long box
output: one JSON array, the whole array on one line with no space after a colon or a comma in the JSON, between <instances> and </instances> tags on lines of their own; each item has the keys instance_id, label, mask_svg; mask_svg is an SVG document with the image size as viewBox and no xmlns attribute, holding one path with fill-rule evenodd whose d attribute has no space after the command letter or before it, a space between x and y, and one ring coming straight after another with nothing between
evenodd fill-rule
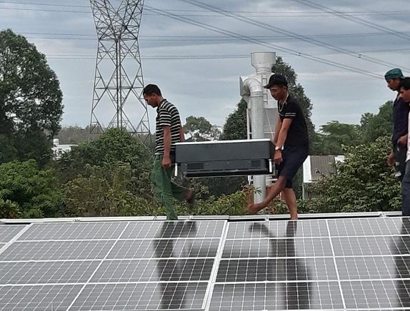
<instances>
[{"instance_id":1,"label":"barefoot man in black t-shirt and cap carrying the long box","mask_svg":"<svg viewBox=\"0 0 410 311\"><path fill-rule=\"evenodd\" d=\"M265 88L269 88L271 96L278 101L279 118L274 136L274 161L278 168L278 180L271 186L261 203L250 204L246 210L249 213L258 213L282 192L291 219L297 219L296 195L292 188L292 180L309 153L306 121L299 103L288 93L288 83L284 76L272 75Z\"/></svg>"}]
</instances>

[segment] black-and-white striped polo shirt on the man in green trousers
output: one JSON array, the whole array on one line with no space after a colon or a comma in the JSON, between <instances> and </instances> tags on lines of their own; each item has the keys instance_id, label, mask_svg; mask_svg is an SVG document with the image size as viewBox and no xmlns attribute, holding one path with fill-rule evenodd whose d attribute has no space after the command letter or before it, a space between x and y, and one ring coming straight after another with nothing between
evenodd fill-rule
<instances>
[{"instance_id":1,"label":"black-and-white striped polo shirt on the man in green trousers","mask_svg":"<svg viewBox=\"0 0 410 311\"><path fill-rule=\"evenodd\" d=\"M175 151L175 143L179 143L181 119L178 109L166 99L156 108L155 153L164 154L164 128L171 127L171 151Z\"/></svg>"}]
</instances>

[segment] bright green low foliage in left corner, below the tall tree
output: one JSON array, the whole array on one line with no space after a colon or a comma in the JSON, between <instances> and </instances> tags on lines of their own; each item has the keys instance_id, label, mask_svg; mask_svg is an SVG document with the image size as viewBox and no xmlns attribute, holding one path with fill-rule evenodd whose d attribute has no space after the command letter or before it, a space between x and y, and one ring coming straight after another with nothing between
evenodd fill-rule
<instances>
[{"instance_id":1,"label":"bright green low foliage in left corner, below the tall tree","mask_svg":"<svg viewBox=\"0 0 410 311\"><path fill-rule=\"evenodd\" d=\"M61 205L54 170L39 170L35 160L0 165L2 217L55 217L61 215Z\"/></svg>"}]
</instances>

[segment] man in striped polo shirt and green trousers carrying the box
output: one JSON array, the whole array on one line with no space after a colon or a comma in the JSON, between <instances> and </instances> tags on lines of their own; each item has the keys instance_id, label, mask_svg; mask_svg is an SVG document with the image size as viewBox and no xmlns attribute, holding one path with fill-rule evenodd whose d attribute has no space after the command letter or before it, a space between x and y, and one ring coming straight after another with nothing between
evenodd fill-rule
<instances>
[{"instance_id":1,"label":"man in striped polo shirt and green trousers carrying the box","mask_svg":"<svg viewBox=\"0 0 410 311\"><path fill-rule=\"evenodd\" d=\"M175 163L175 144L185 141L178 109L162 97L161 90L149 84L143 91L146 103L156 108L156 138L154 169L151 181L159 202L165 206L166 220L178 220L173 198L186 200L189 207L194 205L194 190L176 185L171 181L172 168Z\"/></svg>"}]
</instances>

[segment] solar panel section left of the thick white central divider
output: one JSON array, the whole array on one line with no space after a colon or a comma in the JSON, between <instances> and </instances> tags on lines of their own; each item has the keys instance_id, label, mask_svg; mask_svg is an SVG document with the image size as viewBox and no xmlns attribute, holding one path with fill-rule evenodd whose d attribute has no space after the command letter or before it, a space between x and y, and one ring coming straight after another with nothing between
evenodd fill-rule
<instances>
[{"instance_id":1,"label":"solar panel section left of the thick white central divider","mask_svg":"<svg viewBox=\"0 0 410 311\"><path fill-rule=\"evenodd\" d=\"M0 310L203 310L225 225L34 223L2 244Z\"/></svg>"}]
</instances>

